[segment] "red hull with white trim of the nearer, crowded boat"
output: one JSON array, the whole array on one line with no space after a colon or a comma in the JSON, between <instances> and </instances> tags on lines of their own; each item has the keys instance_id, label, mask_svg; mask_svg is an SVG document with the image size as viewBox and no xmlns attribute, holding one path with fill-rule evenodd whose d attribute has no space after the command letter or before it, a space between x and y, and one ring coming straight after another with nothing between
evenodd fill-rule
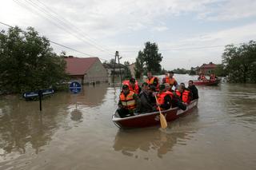
<instances>
[{"instance_id":1,"label":"red hull with white trim of the nearer, crowded boat","mask_svg":"<svg viewBox=\"0 0 256 170\"><path fill-rule=\"evenodd\" d=\"M166 121L174 121L182 115L190 113L190 111L197 107L198 99L191 101L190 105L186 106L186 110L176 108L170 108L163 110L162 113L166 117ZM154 125L160 125L159 112L154 113L142 113L132 117L119 117L118 113L115 112L112 116L112 121L119 128L144 128Z\"/></svg>"}]
</instances>

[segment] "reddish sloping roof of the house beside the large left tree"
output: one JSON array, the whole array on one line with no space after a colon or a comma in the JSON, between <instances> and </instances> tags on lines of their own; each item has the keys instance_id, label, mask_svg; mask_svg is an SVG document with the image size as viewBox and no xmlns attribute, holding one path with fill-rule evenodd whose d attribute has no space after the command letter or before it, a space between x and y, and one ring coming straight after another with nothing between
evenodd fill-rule
<instances>
[{"instance_id":1,"label":"reddish sloping roof of the house beside the large left tree","mask_svg":"<svg viewBox=\"0 0 256 170\"><path fill-rule=\"evenodd\" d=\"M98 57L66 57L66 73L70 75L84 75Z\"/></svg>"}]
</instances>

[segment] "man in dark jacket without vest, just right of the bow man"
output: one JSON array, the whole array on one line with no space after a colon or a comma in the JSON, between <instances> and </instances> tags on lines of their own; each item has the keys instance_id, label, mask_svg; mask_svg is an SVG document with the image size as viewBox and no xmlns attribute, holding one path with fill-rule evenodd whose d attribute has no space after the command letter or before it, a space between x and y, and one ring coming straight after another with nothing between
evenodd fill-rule
<instances>
[{"instance_id":1,"label":"man in dark jacket without vest, just right of the bow man","mask_svg":"<svg viewBox=\"0 0 256 170\"><path fill-rule=\"evenodd\" d=\"M142 91L138 95L141 101L140 113L150 113L153 111L154 105L151 102L151 95L152 93L150 93L149 85L146 82L142 83Z\"/></svg>"}]
</instances>

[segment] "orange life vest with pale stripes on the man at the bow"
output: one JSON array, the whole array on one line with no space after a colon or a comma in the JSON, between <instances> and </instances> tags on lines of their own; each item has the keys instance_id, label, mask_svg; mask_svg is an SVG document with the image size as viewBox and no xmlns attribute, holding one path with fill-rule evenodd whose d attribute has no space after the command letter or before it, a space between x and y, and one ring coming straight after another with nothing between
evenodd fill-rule
<instances>
[{"instance_id":1,"label":"orange life vest with pale stripes on the man at the bow","mask_svg":"<svg viewBox=\"0 0 256 170\"><path fill-rule=\"evenodd\" d=\"M134 92L130 91L127 96L123 92L120 94L120 101L122 102L122 105L125 109L135 109L136 108L136 103L134 100Z\"/></svg>"}]
</instances>

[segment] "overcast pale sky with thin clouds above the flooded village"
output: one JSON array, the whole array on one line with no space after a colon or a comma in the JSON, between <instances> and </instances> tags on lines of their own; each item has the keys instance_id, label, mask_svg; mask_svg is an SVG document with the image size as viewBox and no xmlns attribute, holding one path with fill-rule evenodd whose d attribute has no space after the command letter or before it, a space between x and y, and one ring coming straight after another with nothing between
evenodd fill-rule
<instances>
[{"instance_id":1,"label":"overcast pale sky with thin clouds above the flooded village","mask_svg":"<svg viewBox=\"0 0 256 170\"><path fill-rule=\"evenodd\" d=\"M32 26L54 51L134 62L156 42L165 69L222 62L224 46L256 41L256 0L0 0L0 22ZM0 24L0 30L8 27ZM88 55L86 55L88 54Z\"/></svg>"}]
</instances>

